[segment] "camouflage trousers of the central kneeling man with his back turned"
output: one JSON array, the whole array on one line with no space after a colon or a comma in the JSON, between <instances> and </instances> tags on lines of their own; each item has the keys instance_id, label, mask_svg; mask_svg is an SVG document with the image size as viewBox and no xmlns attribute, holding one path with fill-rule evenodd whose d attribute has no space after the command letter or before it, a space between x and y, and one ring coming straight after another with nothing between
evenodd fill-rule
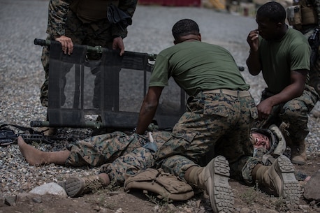
<instances>
[{"instance_id":1,"label":"camouflage trousers of the central kneeling man with his back turned","mask_svg":"<svg viewBox=\"0 0 320 213\"><path fill-rule=\"evenodd\" d=\"M205 166L222 155L233 165L231 177L243 179L242 168L253 156L249 132L258 117L252 96L200 92L188 101L187 109L173 128L173 138L157 151L161 168L184 179L185 171L195 163ZM208 159L203 161L205 155ZM252 170L245 172L251 175Z\"/></svg>"}]
</instances>

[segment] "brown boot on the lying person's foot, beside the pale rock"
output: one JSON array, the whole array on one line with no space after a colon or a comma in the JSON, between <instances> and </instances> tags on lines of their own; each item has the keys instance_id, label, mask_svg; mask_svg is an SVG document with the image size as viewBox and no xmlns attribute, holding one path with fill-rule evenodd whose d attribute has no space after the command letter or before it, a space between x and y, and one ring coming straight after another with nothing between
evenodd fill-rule
<instances>
[{"instance_id":1,"label":"brown boot on the lying person's foot, beside the pale rock","mask_svg":"<svg viewBox=\"0 0 320 213\"><path fill-rule=\"evenodd\" d=\"M105 186L103 179L98 175L88 177L70 177L66 180L65 189L71 198L79 197L82 194L98 191Z\"/></svg>"}]
</instances>

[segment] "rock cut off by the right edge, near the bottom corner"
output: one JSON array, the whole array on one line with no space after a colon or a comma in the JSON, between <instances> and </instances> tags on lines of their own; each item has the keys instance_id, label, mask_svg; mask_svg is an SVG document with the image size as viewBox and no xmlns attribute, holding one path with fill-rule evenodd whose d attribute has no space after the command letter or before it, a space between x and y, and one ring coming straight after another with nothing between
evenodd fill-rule
<instances>
[{"instance_id":1,"label":"rock cut off by the right edge, near the bottom corner","mask_svg":"<svg viewBox=\"0 0 320 213\"><path fill-rule=\"evenodd\" d=\"M316 200L320 201L320 171L314 173L310 180L305 184L305 191L303 193L303 196L307 200Z\"/></svg>"}]
</instances>

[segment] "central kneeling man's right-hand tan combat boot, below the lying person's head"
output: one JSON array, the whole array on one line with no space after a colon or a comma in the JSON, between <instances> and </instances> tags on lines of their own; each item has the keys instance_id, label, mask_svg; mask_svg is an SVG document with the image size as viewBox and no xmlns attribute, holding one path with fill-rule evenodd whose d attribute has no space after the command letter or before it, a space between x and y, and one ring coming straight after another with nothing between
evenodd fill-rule
<instances>
[{"instance_id":1,"label":"central kneeling man's right-hand tan combat boot, below the lying person's head","mask_svg":"<svg viewBox=\"0 0 320 213\"><path fill-rule=\"evenodd\" d=\"M300 185L294 175L293 164L286 156L279 156L272 166L258 164L252 171L252 177L259 187L284 198L287 207L299 205Z\"/></svg>"}]
</instances>

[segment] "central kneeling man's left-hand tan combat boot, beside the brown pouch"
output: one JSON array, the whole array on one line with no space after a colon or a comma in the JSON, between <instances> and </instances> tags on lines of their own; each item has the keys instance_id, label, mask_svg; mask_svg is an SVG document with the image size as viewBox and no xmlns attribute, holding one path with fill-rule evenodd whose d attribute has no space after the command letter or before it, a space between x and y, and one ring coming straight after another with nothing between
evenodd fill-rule
<instances>
[{"instance_id":1,"label":"central kneeling man's left-hand tan combat boot, beside the brown pouch","mask_svg":"<svg viewBox=\"0 0 320 213\"><path fill-rule=\"evenodd\" d=\"M217 156L207 166L193 167L185 179L195 189L204 189L210 197L212 210L215 213L234 212L234 195L229 179L229 164L224 156Z\"/></svg>"}]
</instances>

